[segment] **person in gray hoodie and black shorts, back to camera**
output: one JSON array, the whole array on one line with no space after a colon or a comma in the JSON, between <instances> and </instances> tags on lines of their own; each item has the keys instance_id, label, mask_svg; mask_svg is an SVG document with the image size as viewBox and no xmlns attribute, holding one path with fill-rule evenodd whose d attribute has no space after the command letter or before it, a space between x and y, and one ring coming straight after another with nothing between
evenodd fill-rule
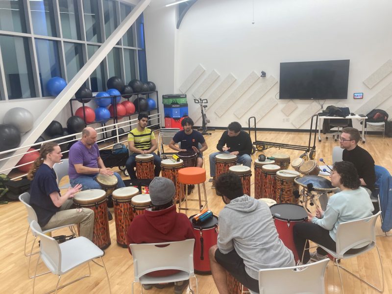
<instances>
[{"instance_id":1,"label":"person in gray hoodie and black shorts, back to camera","mask_svg":"<svg viewBox=\"0 0 392 294\"><path fill-rule=\"evenodd\" d=\"M267 203L244 195L238 175L223 173L215 187L226 204L219 214L218 244L209 251L215 284L220 294L229 293L227 270L259 293L259 270L295 266L293 252L279 239Z\"/></svg>"}]
</instances>

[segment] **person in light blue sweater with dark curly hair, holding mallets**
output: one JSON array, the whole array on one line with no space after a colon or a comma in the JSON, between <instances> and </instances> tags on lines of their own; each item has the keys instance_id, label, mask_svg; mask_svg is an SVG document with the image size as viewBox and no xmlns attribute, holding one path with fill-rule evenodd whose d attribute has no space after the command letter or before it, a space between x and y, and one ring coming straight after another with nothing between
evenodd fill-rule
<instances>
[{"instance_id":1,"label":"person in light blue sweater with dark curly hair, holding mallets","mask_svg":"<svg viewBox=\"0 0 392 294\"><path fill-rule=\"evenodd\" d=\"M298 252L303 252L304 246L309 248L311 240L328 249L336 250L336 231L341 222L355 221L370 217L374 210L368 192L360 187L360 179L354 165L348 161L336 162L330 175L334 187L340 188L341 192L334 194L328 200L324 211L316 208L316 217L308 213L308 221L297 223L294 226L294 244ZM352 248L347 253L356 253L360 250ZM325 258L327 252L320 247L317 251L309 254L305 250L303 264Z\"/></svg>"}]
</instances>

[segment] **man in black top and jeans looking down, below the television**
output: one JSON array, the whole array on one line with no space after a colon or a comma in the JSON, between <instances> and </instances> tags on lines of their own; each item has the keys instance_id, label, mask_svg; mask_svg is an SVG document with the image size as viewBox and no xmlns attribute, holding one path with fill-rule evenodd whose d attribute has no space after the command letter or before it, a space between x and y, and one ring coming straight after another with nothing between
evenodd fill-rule
<instances>
[{"instance_id":1,"label":"man in black top and jeans looking down, below the television","mask_svg":"<svg viewBox=\"0 0 392 294\"><path fill-rule=\"evenodd\" d=\"M215 188L216 161L215 156L221 153L237 155L237 163L250 168L252 164L252 140L245 131L241 130L238 122L229 123L227 131L224 131L217 144L219 152L210 154L210 176L212 176L212 187Z\"/></svg>"}]
</instances>

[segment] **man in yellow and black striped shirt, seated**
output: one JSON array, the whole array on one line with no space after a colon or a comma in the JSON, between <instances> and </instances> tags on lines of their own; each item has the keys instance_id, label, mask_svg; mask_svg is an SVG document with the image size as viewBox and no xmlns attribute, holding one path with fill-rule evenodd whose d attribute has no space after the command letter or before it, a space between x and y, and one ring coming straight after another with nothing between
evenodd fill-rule
<instances>
[{"instance_id":1,"label":"man in yellow and black striped shirt, seated","mask_svg":"<svg viewBox=\"0 0 392 294\"><path fill-rule=\"evenodd\" d=\"M154 132L147 128L147 123L148 115L139 113L137 127L128 134L128 148L132 154L126 160L125 167L131 179L137 179L135 167L136 155L138 154L152 154L155 165L154 175L159 176L161 172L161 158L153 152L158 148L158 144L156 143Z\"/></svg>"}]
</instances>

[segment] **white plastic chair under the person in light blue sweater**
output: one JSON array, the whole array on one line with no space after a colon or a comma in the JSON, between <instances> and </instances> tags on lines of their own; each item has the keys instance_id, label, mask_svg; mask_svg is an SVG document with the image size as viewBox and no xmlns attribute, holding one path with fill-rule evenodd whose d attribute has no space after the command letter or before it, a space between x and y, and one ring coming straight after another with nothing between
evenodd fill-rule
<instances>
[{"instance_id":1,"label":"white plastic chair under the person in light blue sweater","mask_svg":"<svg viewBox=\"0 0 392 294\"><path fill-rule=\"evenodd\" d=\"M340 273L340 269L343 269L347 271L349 274L352 276L356 277L360 281L366 283L368 286L371 288L377 290L378 292L384 292L384 270L383 270L383 265L381 262L381 256L380 256L380 251L378 250L378 247L376 245L376 234L375 234L375 224L377 221L378 216L381 214L381 211L379 211L377 214L360 219L357 221L345 221L339 224L338 230L336 232L336 251L333 251L331 249L325 248L321 245L319 245L321 248L323 248L325 251L327 251L330 255L332 255L336 260L335 260L335 265L338 267L338 272L339 272L339 277L340 277L340 282L342 286L342 293L343 292L343 281L342 281L342 276ZM348 254L346 253L347 250L355 247L355 246L364 246L362 250L358 253L354 254ZM377 253L378 253L378 258L380 259L380 265L381 265L381 275L382 275L382 287L381 289L376 288L375 286L369 284L367 281L363 280L360 278L358 275L355 275L351 271L343 268L339 264L340 259L347 259L347 258L352 258L356 257L360 254L363 254L365 252L368 252L369 250L373 249L376 247Z\"/></svg>"}]
</instances>

